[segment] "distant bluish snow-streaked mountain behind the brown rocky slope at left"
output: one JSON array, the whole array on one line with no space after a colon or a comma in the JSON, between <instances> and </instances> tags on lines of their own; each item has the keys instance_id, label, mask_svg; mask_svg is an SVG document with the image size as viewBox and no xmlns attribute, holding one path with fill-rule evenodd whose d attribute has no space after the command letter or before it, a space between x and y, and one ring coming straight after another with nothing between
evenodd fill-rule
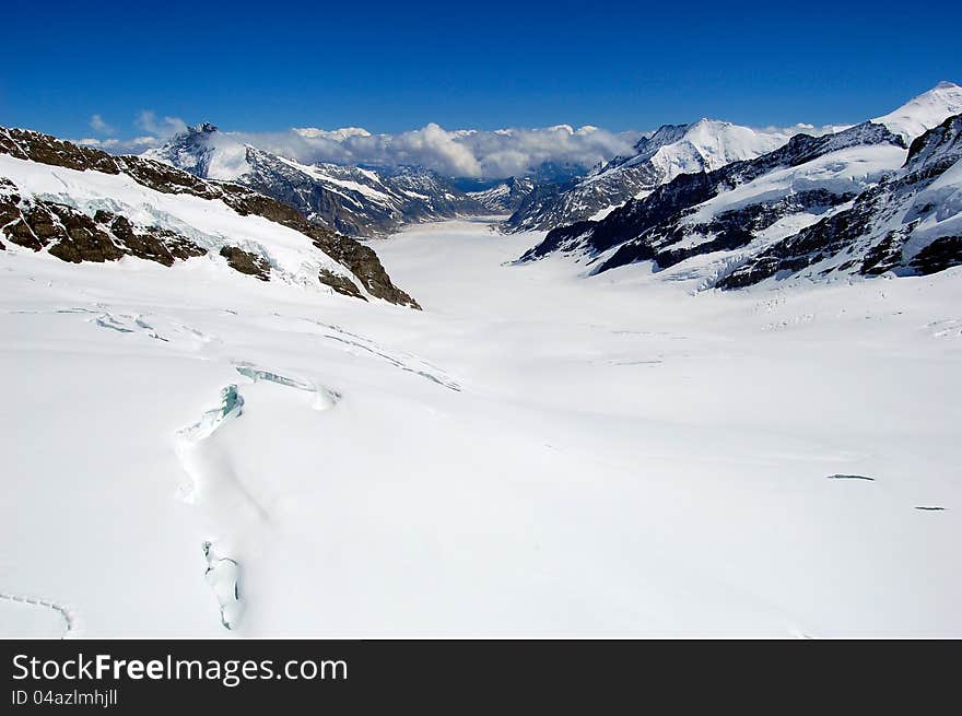
<instances>
[{"instance_id":1,"label":"distant bluish snow-streaked mountain behind the brown rocky slope at left","mask_svg":"<svg viewBox=\"0 0 962 716\"><path fill-rule=\"evenodd\" d=\"M482 213L449 180L420 167L302 164L198 125L145 156L204 179L233 181L282 201L308 221L352 236L382 236L409 222Z\"/></svg>"}]
</instances>

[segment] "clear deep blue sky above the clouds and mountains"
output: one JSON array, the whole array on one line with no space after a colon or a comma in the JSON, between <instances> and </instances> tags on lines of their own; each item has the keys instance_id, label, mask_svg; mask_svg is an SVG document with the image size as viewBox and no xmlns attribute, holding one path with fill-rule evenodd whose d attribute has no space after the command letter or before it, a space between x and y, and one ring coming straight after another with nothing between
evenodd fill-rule
<instances>
[{"instance_id":1,"label":"clear deep blue sky above the clouds and mountains","mask_svg":"<svg viewBox=\"0 0 962 716\"><path fill-rule=\"evenodd\" d=\"M5 0L0 125L395 132L861 120L962 83L962 2Z\"/></svg>"}]
</instances>

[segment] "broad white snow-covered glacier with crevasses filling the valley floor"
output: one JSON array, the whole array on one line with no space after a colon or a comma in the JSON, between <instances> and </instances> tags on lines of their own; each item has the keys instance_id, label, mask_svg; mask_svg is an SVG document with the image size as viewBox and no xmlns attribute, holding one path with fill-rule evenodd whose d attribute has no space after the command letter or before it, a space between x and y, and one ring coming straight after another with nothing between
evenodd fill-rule
<instances>
[{"instance_id":1,"label":"broad white snow-covered glacier with crevasses filling the valley floor","mask_svg":"<svg viewBox=\"0 0 962 716\"><path fill-rule=\"evenodd\" d=\"M962 636L962 269L690 295L532 240L384 242L423 312L0 251L0 634Z\"/></svg>"}]
</instances>

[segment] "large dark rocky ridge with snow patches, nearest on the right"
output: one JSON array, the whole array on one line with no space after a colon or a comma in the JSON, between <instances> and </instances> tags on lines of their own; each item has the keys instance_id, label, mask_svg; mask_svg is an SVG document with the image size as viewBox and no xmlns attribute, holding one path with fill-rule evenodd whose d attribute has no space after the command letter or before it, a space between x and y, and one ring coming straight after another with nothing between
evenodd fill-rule
<instances>
[{"instance_id":1,"label":"large dark rocky ridge with snow patches, nearest on the right","mask_svg":"<svg viewBox=\"0 0 962 716\"><path fill-rule=\"evenodd\" d=\"M884 122L798 134L758 159L679 175L600 221L549 232L521 260L571 254L593 274L650 261L665 278L723 289L941 270L962 261L950 90L942 83Z\"/></svg>"}]
</instances>

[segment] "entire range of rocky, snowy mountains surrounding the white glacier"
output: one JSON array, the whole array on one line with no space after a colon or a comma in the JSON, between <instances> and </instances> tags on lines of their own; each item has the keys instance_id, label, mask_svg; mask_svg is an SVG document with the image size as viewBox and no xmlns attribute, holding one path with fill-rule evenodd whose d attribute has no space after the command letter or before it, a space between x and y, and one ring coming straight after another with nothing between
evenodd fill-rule
<instances>
[{"instance_id":1,"label":"entire range of rocky, snowy mountains surrounding the white glacier","mask_svg":"<svg viewBox=\"0 0 962 716\"><path fill-rule=\"evenodd\" d=\"M134 256L172 266L214 255L262 280L410 306L374 250L348 235L511 214L506 232L550 228L519 262L559 255L586 275L647 262L700 289L737 289L788 277L929 273L962 262L960 113L962 87L942 82L855 126L808 133L709 119L665 125L632 156L584 177L545 165L495 180L302 164L209 124L141 156L2 129L0 220L11 244L67 261ZM196 199L226 211L231 231L197 211ZM298 238L278 244L251 215ZM302 242L293 253L292 240Z\"/></svg>"}]
</instances>

